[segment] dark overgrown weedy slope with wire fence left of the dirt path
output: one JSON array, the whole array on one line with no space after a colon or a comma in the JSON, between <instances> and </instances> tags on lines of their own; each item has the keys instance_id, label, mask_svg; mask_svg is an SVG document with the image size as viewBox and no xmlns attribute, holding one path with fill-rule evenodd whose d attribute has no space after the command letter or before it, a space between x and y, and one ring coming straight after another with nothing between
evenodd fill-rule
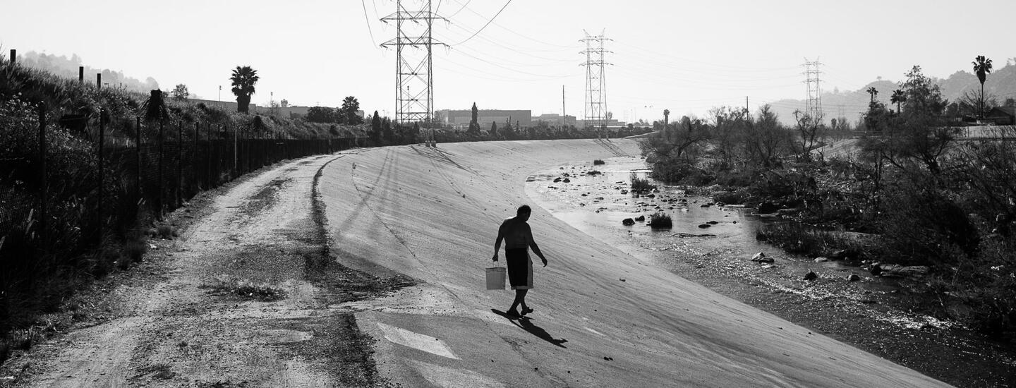
<instances>
[{"instance_id":1,"label":"dark overgrown weedy slope with wire fence left of the dirt path","mask_svg":"<svg viewBox=\"0 0 1016 388\"><path fill-rule=\"evenodd\" d=\"M332 149L334 136L366 136L100 89L3 55L0 128L0 355L75 290L141 261L146 235L171 238L169 225L145 232L164 211L258 166Z\"/></svg>"}]
</instances>

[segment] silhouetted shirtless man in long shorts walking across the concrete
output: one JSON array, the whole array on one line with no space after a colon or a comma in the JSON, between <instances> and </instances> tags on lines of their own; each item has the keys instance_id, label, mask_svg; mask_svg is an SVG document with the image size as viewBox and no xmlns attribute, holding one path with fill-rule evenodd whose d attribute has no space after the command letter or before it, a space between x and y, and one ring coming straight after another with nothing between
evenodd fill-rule
<instances>
[{"instance_id":1,"label":"silhouetted shirtless man in long shorts walking across the concrete","mask_svg":"<svg viewBox=\"0 0 1016 388\"><path fill-rule=\"evenodd\" d=\"M514 217L501 222L501 228L498 228L498 240L494 243L494 261L498 261L501 241L505 241L508 281L511 283L511 289L515 290L515 301L512 302L507 315L513 317L521 317L532 312L532 309L525 306L525 294L532 288L532 259L529 258L529 248L532 248L532 252L539 256L544 266L547 266L547 258L539 252L536 242L532 241L532 230L526 223L531 213L529 205L519 206ZM515 310L519 305L522 306L521 314Z\"/></svg>"}]
</instances>

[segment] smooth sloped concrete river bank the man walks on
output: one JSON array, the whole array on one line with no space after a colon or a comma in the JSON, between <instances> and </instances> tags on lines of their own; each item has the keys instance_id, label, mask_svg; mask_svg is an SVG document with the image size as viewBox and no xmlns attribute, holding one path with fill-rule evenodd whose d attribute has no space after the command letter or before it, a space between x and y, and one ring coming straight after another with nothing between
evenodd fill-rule
<instances>
[{"instance_id":1,"label":"smooth sloped concrete river bank the man walks on","mask_svg":"<svg viewBox=\"0 0 1016 388\"><path fill-rule=\"evenodd\" d=\"M345 304L403 386L947 386L722 297L534 207L532 319L483 289L501 219L547 166L635 155L632 140L440 144L365 150L329 164L318 192L344 265L420 281ZM503 255L502 255L503 257ZM503 261L498 264L503 263ZM503 264L501 264L503 265Z\"/></svg>"}]
</instances>

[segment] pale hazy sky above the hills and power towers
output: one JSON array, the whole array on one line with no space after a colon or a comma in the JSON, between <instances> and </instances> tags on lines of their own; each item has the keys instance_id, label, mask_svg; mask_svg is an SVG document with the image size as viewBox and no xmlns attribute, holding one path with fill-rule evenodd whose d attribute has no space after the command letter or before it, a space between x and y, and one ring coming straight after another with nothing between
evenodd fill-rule
<instances>
[{"instance_id":1,"label":"pale hazy sky above the hills and power towers","mask_svg":"<svg viewBox=\"0 0 1016 388\"><path fill-rule=\"evenodd\" d=\"M418 8L420 1L403 1ZM566 110L581 118L583 29L607 43L607 106L617 119L702 115L804 99L802 64L824 65L822 87L897 81L912 65L931 76L970 71L976 55L996 68L1016 57L1016 1L536 1L434 0L436 109ZM261 81L253 102L394 110L395 52L378 47L395 27L378 19L393 0L0 0L0 46L78 54L84 64L185 83L201 98L232 100L230 70ZM373 34L373 37L372 37ZM464 43L462 43L465 41ZM412 49L406 49L412 50Z\"/></svg>"}]
</instances>

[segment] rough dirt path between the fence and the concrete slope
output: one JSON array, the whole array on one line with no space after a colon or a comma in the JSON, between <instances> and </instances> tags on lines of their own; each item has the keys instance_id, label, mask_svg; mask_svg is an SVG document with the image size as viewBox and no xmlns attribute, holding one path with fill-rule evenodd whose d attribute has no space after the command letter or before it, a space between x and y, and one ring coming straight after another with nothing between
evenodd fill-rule
<instances>
[{"instance_id":1,"label":"rough dirt path between the fence and the concrete slope","mask_svg":"<svg viewBox=\"0 0 1016 388\"><path fill-rule=\"evenodd\" d=\"M356 319L338 305L407 281L331 263L314 183L343 156L289 161L235 183L162 244L161 280L118 286L118 316L29 355L19 385L382 384Z\"/></svg>"}]
</instances>

